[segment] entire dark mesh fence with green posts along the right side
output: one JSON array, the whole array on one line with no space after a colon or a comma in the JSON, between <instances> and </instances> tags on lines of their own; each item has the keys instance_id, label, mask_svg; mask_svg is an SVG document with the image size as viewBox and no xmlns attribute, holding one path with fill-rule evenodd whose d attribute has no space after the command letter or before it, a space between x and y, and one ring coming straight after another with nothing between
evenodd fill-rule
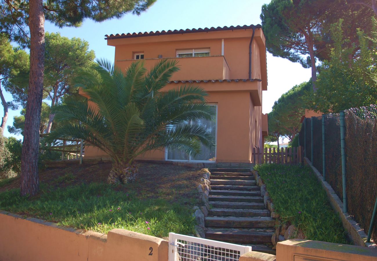
<instances>
[{"instance_id":1,"label":"entire dark mesh fence with green posts along the right side","mask_svg":"<svg viewBox=\"0 0 377 261\"><path fill-rule=\"evenodd\" d=\"M340 150L339 114L325 117L326 181L343 200L342 154ZM313 121L313 166L322 172L322 117L305 119L299 133L300 146L306 143L307 158L311 160L311 121ZM368 233L377 197L377 105L345 111L346 197L348 212ZM377 219L377 218L376 218ZM377 220L372 240L377 242Z\"/></svg>"}]
</instances>

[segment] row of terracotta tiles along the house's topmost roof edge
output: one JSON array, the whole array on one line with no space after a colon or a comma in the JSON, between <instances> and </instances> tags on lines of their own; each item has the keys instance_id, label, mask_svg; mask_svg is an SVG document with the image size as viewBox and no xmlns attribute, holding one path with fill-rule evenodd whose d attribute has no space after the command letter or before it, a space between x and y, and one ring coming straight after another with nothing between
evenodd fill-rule
<instances>
[{"instance_id":1,"label":"row of terracotta tiles along the house's topmost roof edge","mask_svg":"<svg viewBox=\"0 0 377 261\"><path fill-rule=\"evenodd\" d=\"M261 25L237 25L237 26L224 26L224 27L205 27L204 29L198 28L198 29L179 29L179 30L162 30L162 31L150 31L150 32L133 32L133 33L127 33L127 34L106 34L105 39L116 39L116 38L130 38L130 37L140 37L140 36L153 36L153 35L163 35L163 34L184 34L184 33L194 33L194 32L211 32L211 31L224 31L224 30L236 30L236 29L252 29L252 28L262 28Z\"/></svg>"}]
</instances>

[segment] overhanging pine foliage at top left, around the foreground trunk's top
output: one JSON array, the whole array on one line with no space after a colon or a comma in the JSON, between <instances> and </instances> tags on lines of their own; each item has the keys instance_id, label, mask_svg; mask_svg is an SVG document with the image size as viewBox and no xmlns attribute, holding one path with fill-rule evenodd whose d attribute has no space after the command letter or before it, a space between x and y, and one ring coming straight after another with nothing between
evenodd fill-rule
<instances>
[{"instance_id":1,"label":"overhanging pine foliage at top left, around the foreground trunk's top","mask_svg":"<svg viewBox=\"0 0 377 261\"><path fill-rule=\"evenodd\" d=\"M0 2L0 32L6 32L12 41L29 46L30 31L28 28L29 0ZM56 26L80 26L86 18L104 21L109 18L120 18L132 12L140 14L156 0L125 1L93 1L93 0L49 0L43 1L44 18Z\"/></svg>"}]
</instances>

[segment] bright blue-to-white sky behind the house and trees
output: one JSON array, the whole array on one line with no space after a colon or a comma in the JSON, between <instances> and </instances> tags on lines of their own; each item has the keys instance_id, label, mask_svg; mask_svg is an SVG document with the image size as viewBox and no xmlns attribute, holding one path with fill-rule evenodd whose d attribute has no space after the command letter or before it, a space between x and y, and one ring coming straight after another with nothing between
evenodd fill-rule
<instances>
[{"instance_id":1,"label":"bright blue-to-white sky behind the house and trees","mask_svg":"<svg viewBox=\"0 0 377 261\"><path fill-rule=\"evenodd\" d=\"M60 32L61 35L69 38L80 37L89 42L90 49L95 51L97 58L114 60L115 48L107 46L104 40L105 34L256 25L261 23L259 15L262 5L269 2L269 0L157 0L150 9L139 16L126 14L123 18L102 23L85 20L79 28L58 28L46 22L45 31ZM274 101L284 92L296 84L309 80L311 70L304 69L299 63L292 63L267 53L267 74L268 91L263 92L263 113L270 112ZM10 94L5 94L5 97L7 101L12 99ZM20 110L9 111L7 125L13 124L15 115L20 115ZM22 138L21 135L9 134L7 129L4 135Z\"/></svg>"}]
</instances>

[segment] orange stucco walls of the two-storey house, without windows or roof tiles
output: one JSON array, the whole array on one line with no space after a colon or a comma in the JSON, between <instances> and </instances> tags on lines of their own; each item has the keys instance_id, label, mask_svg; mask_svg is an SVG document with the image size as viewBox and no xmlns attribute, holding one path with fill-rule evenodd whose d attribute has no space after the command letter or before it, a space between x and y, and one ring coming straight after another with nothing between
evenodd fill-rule
<instances>
[{"instance_id":1,"label":"orange stucco walls of the two-storey house, without windows or roof tiles","mask_svg":"<svg viewBox=\"0 0 377 261\"><path fill-rule=\"evenodd\" d=\"M115 65L123 72L135 61L132 60L135 53L144 52L143 62L147 69L159 61L158 55L178 61L181 70L173 75L172 80L247 79L252 33L252 29L196 32L109 39L107 44L115 46ZM209 48L210 56L176 58L177 50L200 48ZM253 147L263 147L262 91L267 89L265 53L263 32L256 29L252 44L251 78L261 81L194 83L209 93L208 103L218 106L217 162L250 163ZM170 83L163 90L180 85ZM106 154L96 148L85 148L85 157L104 156ZM162 148L140 158L164 160L165 152Z\"/></svg>"}]
</instances>

